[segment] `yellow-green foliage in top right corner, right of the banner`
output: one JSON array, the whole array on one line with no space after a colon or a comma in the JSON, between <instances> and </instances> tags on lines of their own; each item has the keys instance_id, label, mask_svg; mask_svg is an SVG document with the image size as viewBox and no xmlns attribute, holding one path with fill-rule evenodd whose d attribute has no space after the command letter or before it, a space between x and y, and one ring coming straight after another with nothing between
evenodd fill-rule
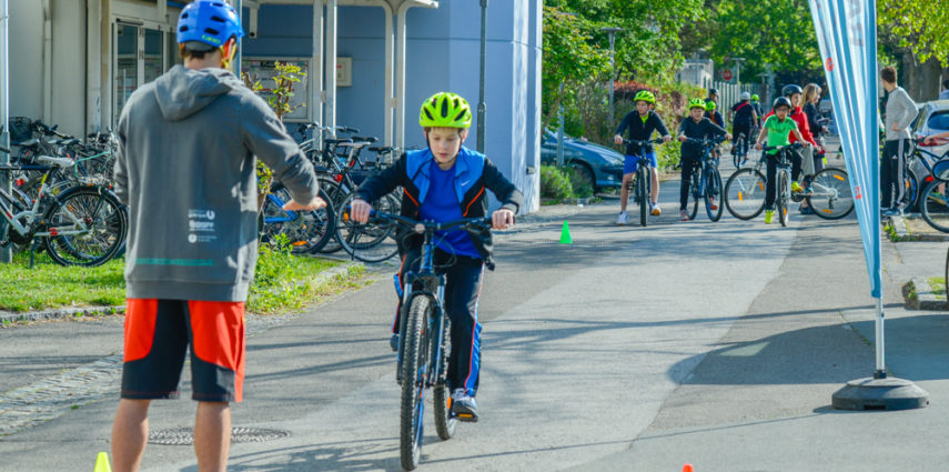
<instances>
[{"instance_id":1,"label":"yellow-green foliage in top right corner, right of the banner","mask_svg":"<svg viewBox=\"0 0 949 472\"><path fill-rule=\"evenodd\" d=\"M949 9L939 0L878 0L881 46L909 50L923 63L936 58L949 67Z\"/></svg>"}]
</instances>

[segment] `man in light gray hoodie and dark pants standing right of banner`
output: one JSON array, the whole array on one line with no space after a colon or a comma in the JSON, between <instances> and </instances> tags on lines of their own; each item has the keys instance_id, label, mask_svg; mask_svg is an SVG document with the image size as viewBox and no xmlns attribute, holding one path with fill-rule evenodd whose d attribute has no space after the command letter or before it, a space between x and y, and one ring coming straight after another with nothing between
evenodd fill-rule
<instances>
[{"instance_id":1,"label":"man in light gray hoodie and dark pants standing right of banner","mask_svg":"<svg viewBox=\"0 0 949 472\"><path fill-rule=\"evenodd\" d=\"M902 214L903 204L903 159L909 151L909 125L919 113L916 102L902 87L897 86L896 69L885 67L880 70L884 89L889 94L886 107L887 142L880 161L880 208L884 214ZM895 194L895 195L894 195Z\"/></svg>"}]
</instances>

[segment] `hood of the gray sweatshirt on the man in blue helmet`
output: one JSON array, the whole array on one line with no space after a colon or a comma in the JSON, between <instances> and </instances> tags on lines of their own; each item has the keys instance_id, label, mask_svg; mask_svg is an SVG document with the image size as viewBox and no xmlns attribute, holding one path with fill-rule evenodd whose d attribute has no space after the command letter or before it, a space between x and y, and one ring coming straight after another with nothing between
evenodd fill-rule
<instances>
[{"instance_id":1,"label":"hood of the gray sweatshirt on the man in blue helmet","mask_svg":"<svg viewBox=\"0 0 949 472\"><path fill-rule=\"evenodd\" d=\"M155 99L165 120L183 120L243 86L226 69L192 70L175 66L155 80Z\"/></svg>"}]
</instances>

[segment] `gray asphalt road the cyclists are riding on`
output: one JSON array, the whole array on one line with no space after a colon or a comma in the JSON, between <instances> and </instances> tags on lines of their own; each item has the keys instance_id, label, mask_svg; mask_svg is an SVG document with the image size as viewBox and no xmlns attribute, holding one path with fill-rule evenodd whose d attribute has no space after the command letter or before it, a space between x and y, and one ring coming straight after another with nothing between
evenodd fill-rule
<instances>
[{"instance_id":1,"label":"gray asphalt road the cyclists are riding on","mask_svg":"<svg viewBox=\"0 0 949 472\"><path fill-rule=\"evenodd\" d=\"M660 201L677 194L668 182ZM852 217L795 215L780 228L700 213L682 223L665 204L639 228L614 225L616 211L615 201L549 210L498 237L479 302L481 421L443 442L428 419L420 470L909 470L866 460L920 455L903 421L938 432L913 465L946 455L935 416L945 409L828 409L835 390L872 372L872 299ZM557 214L573 212L574 243L558 244ZM401 469L391 272L250 339L234 426L290 435L234 444L229 470ZM110 355L120 337L120 318L0 330L0 391ZM905 358L900 365L913 364ZM928 389L946 390L927 372ZM91 470L109 448L115 403L97 399L0 439L0 470ZM193 412L190 400L155 402L151 426L189 426ZM876 426L905 442L881 445ZM196 468L190 446L152 444L143 470Z\"/></svg>"}]
</instances>

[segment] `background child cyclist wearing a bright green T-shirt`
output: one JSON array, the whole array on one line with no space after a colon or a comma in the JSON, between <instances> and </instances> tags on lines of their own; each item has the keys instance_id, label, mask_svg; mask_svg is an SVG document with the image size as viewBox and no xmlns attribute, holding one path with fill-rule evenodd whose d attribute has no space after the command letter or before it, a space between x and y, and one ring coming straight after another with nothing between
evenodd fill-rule
<instances>
[{"instance_id":1,"label":"background child cyclist wearing a bright green T-shirt","mask_svg":"<svg viewBox=\"0 0 949 472\"><path fill-rule=\"evenodd\" d=\"M768 138L768 145L788 145L790 144L790 135L795 135L797 141L802 141L805 144L809 144L804 140L804 135L801 135L800 130L797 129L797 121L794 119L789 119L788 113L790 112L791 104L790 100L787 97L778 97L775 100L774 107L771 107L771 111L775 114L769 114L768 119L765 120L765 125L761 127L761 132L758 133L758 138L756 139L755 149L761 150L761 142L765 138ZM800 154L795 150L789 150L791 153L791 191L800 192L804 190L800 187L800 183L797 182L800 177ZM777 172L778 172L778 151L773 149L767 153L767 165L768 171L765 177L767 180L768 188L765 189L765 224L770 224L771 218L775 214L775 197L777 194Z\"/></svg>"}]
</instances>

